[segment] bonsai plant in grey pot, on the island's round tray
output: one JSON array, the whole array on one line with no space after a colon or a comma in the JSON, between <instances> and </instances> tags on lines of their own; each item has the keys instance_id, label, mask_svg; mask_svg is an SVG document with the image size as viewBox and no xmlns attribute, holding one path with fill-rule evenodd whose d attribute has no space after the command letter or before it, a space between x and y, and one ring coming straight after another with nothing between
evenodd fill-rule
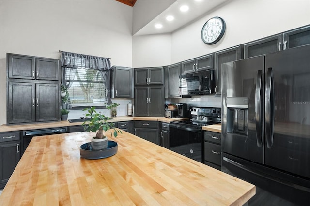
<instances>
[{"instance_id":1,"label":"bonsai plant in grey pot, on the island's round tray","mask_svg":"<svg viewBox=\"0 0 310 206\"><path fill-rule=\"evenodd\" d=\"M83 126L85 131L87 132L97 132L96 136L92 138L92 149L93 150L101 150L106 149L108 145L108 138L104 135L103 131L108 131L110 128L114 127L114 123L108 122L110 119L109 117L106 117L102 115L101 113L97 113L95 111L95 107L86 108L83 109L83 111L86 111L88 113L85 114L85 120L83 122ZM122 133L121 130L114 128L113 135L114 137L117 137L118 132ZM111 131L112 135L112 131Z\"/></svg>"}]
</instances>

